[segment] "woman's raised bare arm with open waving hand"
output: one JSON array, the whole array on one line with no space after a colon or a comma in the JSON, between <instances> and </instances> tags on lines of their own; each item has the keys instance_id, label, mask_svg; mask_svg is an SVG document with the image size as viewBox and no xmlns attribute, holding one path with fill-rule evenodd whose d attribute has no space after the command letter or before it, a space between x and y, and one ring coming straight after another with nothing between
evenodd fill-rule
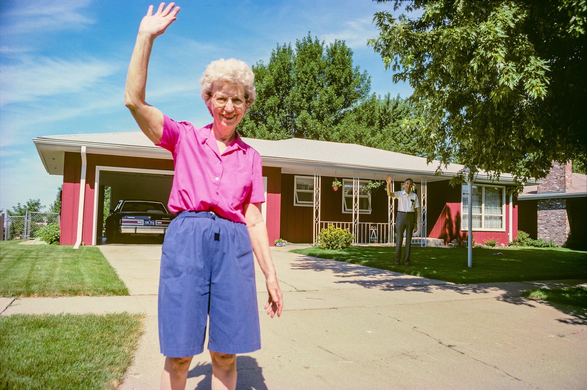
<instances>
[{"instance_id":1,"label":"woman's raised bare arm with open waving hand","mask_svg":"<svg viewBox=\"0 0 587 390\"><path fill-rule=\"evenodd\" d=\"M147 67L149 67L153 41L177 20L176 15L180 8L174 8L174 5L175 3L172 2L165 8L165 3L161 3L154 15L153 6L149 6L149 11L139 26L139 35L137 35L133 56L130 59L124 90L124 104L133 114L134 120L137 121L143 133L155 144L161 141L163 135L163 113L145 101Z\"/></svg>"}]
</instances>

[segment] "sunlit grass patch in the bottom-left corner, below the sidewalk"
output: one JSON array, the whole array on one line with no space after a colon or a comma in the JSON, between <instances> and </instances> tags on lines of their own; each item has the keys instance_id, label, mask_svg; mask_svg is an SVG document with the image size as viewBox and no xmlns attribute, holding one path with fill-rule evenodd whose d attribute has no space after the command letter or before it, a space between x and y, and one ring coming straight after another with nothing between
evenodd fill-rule
<instances>
[{"instance_id":1,"label":"sunlit grass patch in the bottom-left corner, below the sidewalk","mask_svg":"<svg viewBox=\"0 0 587 390\"><path fill-rule=\"evenodd\" d=\"M0 317L0 388L116 389L143 333L142 314Z\"/></svg>"}]
</instances>

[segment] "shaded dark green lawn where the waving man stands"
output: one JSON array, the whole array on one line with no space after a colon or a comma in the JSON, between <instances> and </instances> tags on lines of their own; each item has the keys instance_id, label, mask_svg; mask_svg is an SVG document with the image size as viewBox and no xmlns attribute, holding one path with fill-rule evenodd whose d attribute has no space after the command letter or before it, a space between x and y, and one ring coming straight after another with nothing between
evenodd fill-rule
<instances>
[{"instance_id":1,"label":"shaded dark green lawn where the waving man stands","mask_svg":"<svg viewBox=\"0 0 587 390\"><path fill-rule=\"evenodd\" d=\"M587 279L587 252L562 248L475 248L471 268L467 267L466 247L412 246L411 266L394 266L395 248L387 246L311 247L291 252L453 283Z\"/></svg>"}]
</instances>

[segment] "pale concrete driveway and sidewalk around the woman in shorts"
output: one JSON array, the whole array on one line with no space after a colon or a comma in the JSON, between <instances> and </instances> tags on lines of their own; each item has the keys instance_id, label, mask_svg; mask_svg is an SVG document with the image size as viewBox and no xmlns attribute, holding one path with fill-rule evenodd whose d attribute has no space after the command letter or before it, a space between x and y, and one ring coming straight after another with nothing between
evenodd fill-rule
<instances>
[{"instance_id":1,"label":"pale concrete driveway and sidewalk around the woman in shorts","mask_svg":"<svg viewBox=\"0 0 587 390\"><path fill-rule=\"evenodd\" d=\"M158 389L160 247L143 248L150 249L100 247L134 296L20 299L2 315L146 313L120 389ZM586 388L587 313L519 297L536 285L585 281L456 285L278 250L272 255L285 310L273 319L259 312L263 348L237 358L239 389ZM257 271L262 309L266 290ZM210 388L210 378L205 352L194 357L187 388Z\"/></svg>"}]
</instances>

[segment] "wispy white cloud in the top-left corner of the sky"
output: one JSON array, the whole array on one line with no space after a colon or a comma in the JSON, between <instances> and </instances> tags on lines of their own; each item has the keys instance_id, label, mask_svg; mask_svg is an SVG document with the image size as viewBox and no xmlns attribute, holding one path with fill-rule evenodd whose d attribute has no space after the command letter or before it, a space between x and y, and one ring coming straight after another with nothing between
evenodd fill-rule
<instances>
[{"instance_id":1,"label":"wispy white cloud in the top-left corner of the sky","mask_svg":"<svg viewBox=\"0 0 587 390\"><path fill-rule=\"evenodd\" d=\"M35 31L75 29L96 21L82 15L80 9L90 5L89 0L15 2L12 9L2 13L3 34L22 34Z\"/></svg>"}]
</instances>

